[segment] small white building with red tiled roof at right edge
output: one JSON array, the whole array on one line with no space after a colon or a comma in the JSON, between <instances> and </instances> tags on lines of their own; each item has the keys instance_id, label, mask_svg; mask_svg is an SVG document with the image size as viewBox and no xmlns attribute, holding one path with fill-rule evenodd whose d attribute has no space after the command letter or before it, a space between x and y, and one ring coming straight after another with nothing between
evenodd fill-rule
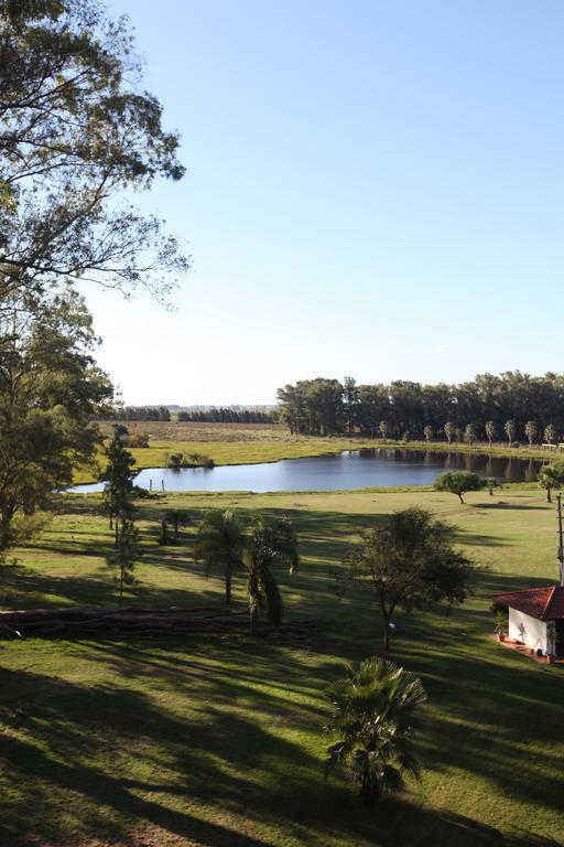
<instances>
[{"instance_id":1,"label":"small white building with red tiled roof at right edge","mask_svg":"<svg viewBox=\"0 0 564 847\"><path fill-rule=\"evenodd\" d=\"M534 651L564 655L564 586L496 594L509 608L509 637Z\"/></svg>"}]
</instances>

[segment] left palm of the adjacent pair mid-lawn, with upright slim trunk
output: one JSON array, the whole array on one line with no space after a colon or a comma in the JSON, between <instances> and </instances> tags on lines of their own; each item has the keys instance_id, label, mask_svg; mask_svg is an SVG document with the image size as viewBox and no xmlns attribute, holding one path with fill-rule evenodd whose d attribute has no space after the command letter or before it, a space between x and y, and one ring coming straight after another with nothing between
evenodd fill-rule
<instances>
[{"instance_id":1,"label":"left palm of the adjacent pair mid-lawn, with upright slim trunk","mask_svg":"<svg viewBox=\"0 0 564 847\"><path fill-rule=\"evenodd\" d=\"M245 524L236 512L209 510L198 527L194 556L202 561L206 575L212 568L220 567L225 573L225 602L231 603L231 579L237 570L245 568Z\"/></svg>"}]
</instances>

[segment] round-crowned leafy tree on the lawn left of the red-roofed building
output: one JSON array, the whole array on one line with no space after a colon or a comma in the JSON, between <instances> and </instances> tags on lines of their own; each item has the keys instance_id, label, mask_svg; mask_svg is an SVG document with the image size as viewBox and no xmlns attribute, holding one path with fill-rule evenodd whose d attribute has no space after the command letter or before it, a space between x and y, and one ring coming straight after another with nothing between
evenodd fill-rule
<instances>
[{"instance_id":1,"label":"round-crowned leafy tree on the lawn left of the red-roofed building","mask_svg":"<svg viewBox=\"0 0 564 847\"><path fill-rule=\"evenodd\" d=\"M469 560L453 546L454 527L435 521L423 508L395 512L351 547L337 575L337 593L355 583L368 589L382 613L383 646L390 646L390 623L397 607L408 612L431 603L462 603Z\"/></svg>"}]
</instances>

